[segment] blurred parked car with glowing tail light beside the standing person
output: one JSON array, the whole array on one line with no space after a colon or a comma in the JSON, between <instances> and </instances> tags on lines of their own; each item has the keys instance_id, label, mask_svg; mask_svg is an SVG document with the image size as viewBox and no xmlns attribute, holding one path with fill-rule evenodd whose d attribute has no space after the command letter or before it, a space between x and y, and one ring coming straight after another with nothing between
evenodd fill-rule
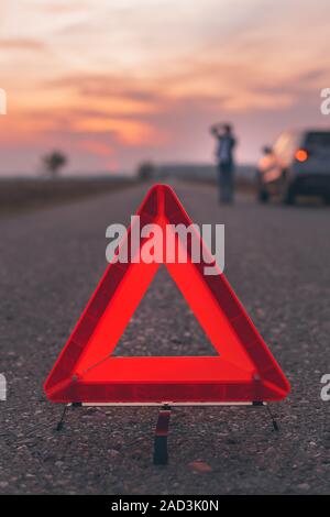
<instances>
[{"instance_id":1,"label":"blurred parked car with glowing tail light beside the standing person","mask_svg":"<svg viewBox=\"0 0 330 517\"><path fill-rule=\"evenodd\" d=\"M292 205L301 195L330 204L330 131L285 131L263 153L256 174L261 202L277 196Z\"/></svg>"}]
</instances>

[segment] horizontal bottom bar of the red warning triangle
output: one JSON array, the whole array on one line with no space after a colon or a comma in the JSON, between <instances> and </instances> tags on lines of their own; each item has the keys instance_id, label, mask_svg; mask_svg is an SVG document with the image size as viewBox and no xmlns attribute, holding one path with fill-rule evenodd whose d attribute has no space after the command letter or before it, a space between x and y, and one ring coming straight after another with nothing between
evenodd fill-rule
<instances>
[{"instance_id":1,"label":"horizontal bottom bar of the red warning triangle","mask_svg":"<svg viewBox=\"0 0 330 517\"><path fill-rule=\"evenodd\" d=\"M108 358L48 393L55 403L243 403L283 398L278 386L220 356Z\"/></svg>"}]
</instances>

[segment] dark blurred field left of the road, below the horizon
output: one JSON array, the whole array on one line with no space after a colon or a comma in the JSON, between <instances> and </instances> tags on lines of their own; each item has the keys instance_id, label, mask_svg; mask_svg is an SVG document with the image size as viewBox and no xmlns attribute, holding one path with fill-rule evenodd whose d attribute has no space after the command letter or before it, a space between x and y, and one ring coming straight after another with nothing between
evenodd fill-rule
<instances>
[{"instance_id":1,"label":"dark blurred field left of the road, below the horizon","mask_svg":"<svg viewBox=\"0 0 330 517\"><path fill-rule=\"evenodd\" d=\"M2 178L0 216L45 208L133 185L132 178Z\"/></svg>"}]
</instances>

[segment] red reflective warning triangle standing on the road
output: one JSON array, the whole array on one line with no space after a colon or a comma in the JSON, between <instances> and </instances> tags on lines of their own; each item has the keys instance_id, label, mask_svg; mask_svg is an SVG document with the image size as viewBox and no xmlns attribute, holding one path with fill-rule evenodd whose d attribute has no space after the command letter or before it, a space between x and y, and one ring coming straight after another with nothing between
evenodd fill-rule
<instances>
[{"instance_id":1,"label":"red reflective warning triangle standing on the road","mask_svg":"<svg viewBox=\"0 0 330 517\"><path fill-rule=\"evenodd\" d=\"M118 358L112 352L153 280L160 263L113 261L78 320L45 383L55 403L252 403L280 400L289 384L224 275L205 275L200 263L165 262L168 224L189 227L174 190L154 186L140 210L140 226L164 229L165 266L204 328L218 356ZM134 223L133 223L134 226ZM120 245L130 250L130 228ZM176 244L183 245L177 239ZM143 246L148 239L142 240ZM150 243L150 242L148 242ZM185 243L186 244L186 243ZM190 246L190 248L189 248ZM140 255L141 256L141 255Z\"/></svg>"}]
</instances>

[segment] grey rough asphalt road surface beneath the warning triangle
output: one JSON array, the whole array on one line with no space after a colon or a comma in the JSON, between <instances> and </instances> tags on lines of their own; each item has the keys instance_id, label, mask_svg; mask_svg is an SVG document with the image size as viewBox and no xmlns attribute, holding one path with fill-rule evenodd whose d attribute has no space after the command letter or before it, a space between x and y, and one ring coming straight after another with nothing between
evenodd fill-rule
<instances>
[{"instance_id":1,"label":"grey rough asphalt road surface beneath the warning triangle","mask_svg":"<svg viewBox=\"0 0 330 517\"><path fill-rule=\"evenodd\" d=\"M70 410L43 382L106 267L106 227L128 223L145 186L0 221L1 493L330 493L330 211L219 207L209 186L175 188L198 223L226 223L226 274L292 383L265 408L176 408L169 464L152 464L157 408ZM121 354L212 353L172 280L161 271L122 337Z\"/></svg>"}]
</instances>

